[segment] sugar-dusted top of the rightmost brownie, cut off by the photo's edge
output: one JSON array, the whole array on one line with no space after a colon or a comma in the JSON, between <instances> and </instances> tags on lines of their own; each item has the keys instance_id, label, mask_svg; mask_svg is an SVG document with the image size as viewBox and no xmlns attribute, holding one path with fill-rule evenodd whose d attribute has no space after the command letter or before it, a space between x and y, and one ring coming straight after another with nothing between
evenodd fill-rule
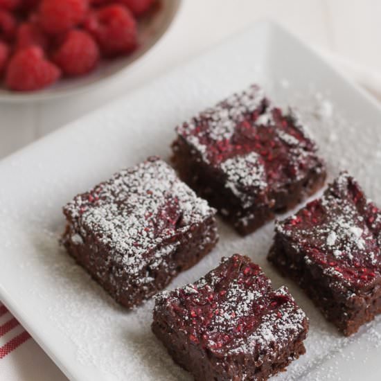
<instances>
[{"instance_id":1,"label":"sugar-dusted top of the rightmost brownie, cut off by the photo's edge","mask_svg":"<svg viewBox=\"0 0 381 381\"><path fill-rule=\"evenodd\" d=\"M311 264L323 267L324 274L359 287L380 274L381 224L375 224L380 215L357 182L343 172L321 199L278 222L276 231L290 238L301 255L307 254Z\"/></svg>"}]
</instances>

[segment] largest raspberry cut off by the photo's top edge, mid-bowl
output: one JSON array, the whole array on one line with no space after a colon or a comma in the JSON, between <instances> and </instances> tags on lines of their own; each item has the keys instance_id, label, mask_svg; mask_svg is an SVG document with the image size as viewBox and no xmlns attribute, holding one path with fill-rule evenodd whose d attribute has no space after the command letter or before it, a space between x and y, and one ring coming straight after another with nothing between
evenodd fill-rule
<instances>
[{"instance_id":1,"label":"largest raspberry cut off by the photo's top edge, mid-bowl","mask_svg":"<svg viewBox=\"0 0 381 381\"><path fill-rule=\"evenodd\" d=\"M42 0L39 22L46 33L65 33L83 21L87 8L87 0Z\"/></svg>"}]
</instances>

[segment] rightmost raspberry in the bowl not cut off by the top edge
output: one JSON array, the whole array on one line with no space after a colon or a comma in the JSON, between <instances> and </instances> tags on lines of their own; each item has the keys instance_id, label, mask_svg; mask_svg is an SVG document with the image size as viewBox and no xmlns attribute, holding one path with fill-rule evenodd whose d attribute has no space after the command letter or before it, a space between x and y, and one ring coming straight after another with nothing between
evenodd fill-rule
<instances>
[{"instance_id":1,"label":"rightmost raspberry in the bowl not cut off by the top edge","mask_svg":"<svg viewBox=\"0 0 381 381\"><path fill-rule=\"evenodd\" d=\"M130 53L137 45L136 22L123 6L106 6L89 15L85 28L94 35L104 55Z\"/></svg>"}]
</instances>

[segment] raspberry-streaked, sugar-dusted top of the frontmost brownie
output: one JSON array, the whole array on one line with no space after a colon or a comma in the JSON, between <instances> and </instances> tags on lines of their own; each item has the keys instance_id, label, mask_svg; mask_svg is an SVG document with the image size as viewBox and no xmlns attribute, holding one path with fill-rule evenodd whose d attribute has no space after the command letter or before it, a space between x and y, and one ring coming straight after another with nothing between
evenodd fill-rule
<instances>
[{"instance_id":1,"label":"raspberry-streaked, sugar-dusted top of the frontmost brownie","mask_svg":"<svg viewBox=\"0 0 381 381\"><path fill-rule=\"evenodd\" d=\"M155 316L218 356L271 356L305 331L306 317L285 287L234 255L195 283L157 296ZM155 319L156 319L155 318ZM233 361L233 360L229 360ZM239 361L239 360L237 360Z\"/></svg>"}]
</instances>

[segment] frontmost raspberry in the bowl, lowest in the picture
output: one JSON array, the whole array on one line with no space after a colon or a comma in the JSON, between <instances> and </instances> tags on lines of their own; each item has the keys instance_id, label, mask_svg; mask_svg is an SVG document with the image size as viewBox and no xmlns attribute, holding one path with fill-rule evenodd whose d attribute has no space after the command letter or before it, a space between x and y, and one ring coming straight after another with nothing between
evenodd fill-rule
<instances>
[{"instance_id":1,"label":"frontmost raspberry in the bowl, lowest in the picture","mask_svg":"<svg viewBox=\"0 0 381 381\"><path fill-rule=\"evenodd\" d=\"M31 91L51 85L60 78L60 69L44 58L44 51L30 46L17 52L8 64L6 85L17 91Z\"/></svg>"}]
</instances>

